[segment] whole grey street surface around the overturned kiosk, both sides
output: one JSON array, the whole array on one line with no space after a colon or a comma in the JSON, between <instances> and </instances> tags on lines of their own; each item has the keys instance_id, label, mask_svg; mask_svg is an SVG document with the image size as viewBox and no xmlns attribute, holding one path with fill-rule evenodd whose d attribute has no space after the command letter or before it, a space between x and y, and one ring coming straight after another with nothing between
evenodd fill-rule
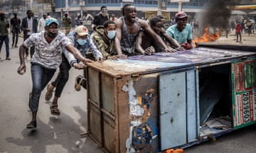
<instances>
[{"instance_id":1,"label":"whole grey street surface around the overturned kiosk, both sides","mask_svg":"<svg viewBox=\"0 0 256 153\"><path fill-rule=\"evenodd\" d=\"M11 35L10 35L11 44ZM238 44L233 33L217 42ZM20 45L23 38L19 38ZM255 45L256 34L242 34L242 44ZM256 51L256 49L254 50ZM74 79L82 71L71 69L70 79L59 99L60 116L50 115L50 102L41 94L38 111L38 128L26 129L31 120L28 110L28 93L31 91L30 63L27 60L26 74L18 75L18 48L10 47L11 60L5 60L5 45L1 48L0 60L0 153L101 153L102 149L90 137L80 137L87 131L86 90L75 91ZM57 74L57 73L56 73ZM56 75L55 75L56 76ZM54 77L55 78L55 77ZM76 142L80 145L76 145ZM252 153L256 150L256 126L252 125L218 137L216 141L204 142L185 149L186 153Z\"/></svg>"}]
</instances>

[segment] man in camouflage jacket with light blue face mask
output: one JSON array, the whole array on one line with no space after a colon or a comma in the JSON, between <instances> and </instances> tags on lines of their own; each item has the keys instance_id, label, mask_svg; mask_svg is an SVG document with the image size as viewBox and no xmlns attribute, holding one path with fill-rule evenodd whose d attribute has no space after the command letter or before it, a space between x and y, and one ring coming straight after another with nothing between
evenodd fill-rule
<instances>
[{"instance_id":1,"label":"man in camouflage jacket with light blue face mask","mask_svg":"<svg viewBox=\"0 0 256 153\"><path fill-rule=\"evenodd\" d=\"M114 21L105 21L103 26L97 26L92 33L92 40L105 59L112 59L117 54L114 52L115 28Z\"/></svg>"}]
</instances>

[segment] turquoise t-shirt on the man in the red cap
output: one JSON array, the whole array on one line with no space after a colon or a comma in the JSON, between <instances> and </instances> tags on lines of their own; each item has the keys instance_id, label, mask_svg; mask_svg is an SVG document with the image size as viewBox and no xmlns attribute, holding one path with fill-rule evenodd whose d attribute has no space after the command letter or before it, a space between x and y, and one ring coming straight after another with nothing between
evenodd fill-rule
<instances>
[{"instance_id":1,"label":"turquoise t-shirt on the man in the red cap","mask_svg":"<svg viewBox=\"0 0 256 153\"><path fill-rule=\"evenodd\" d=\"M170 26L166 33L171 36L171 38L174 38L178 41L178 43L181 45L187 40L192 40L192 28L190 24L186 24L186 28L184 28L182 31L179 31L177 29L177 25Z\"/></svg>"}]
</instances>

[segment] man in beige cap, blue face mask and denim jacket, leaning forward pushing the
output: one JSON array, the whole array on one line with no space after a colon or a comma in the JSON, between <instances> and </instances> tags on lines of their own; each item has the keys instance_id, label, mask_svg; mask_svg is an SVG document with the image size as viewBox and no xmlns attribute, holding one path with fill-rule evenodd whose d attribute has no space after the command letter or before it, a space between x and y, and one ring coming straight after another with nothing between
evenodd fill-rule
<instances>
[{"instance_id":1,"label":"man in beige cap, blue face mask and denim jacket, leaning forward pushing the","mask_svg":"<svg viewBox=\"0 0 256 153\"><path fill-rule=\"evenodd\" d=\"M102 61L102 54L99 52L99 50L97 50L97 47L92 42L92 39L90 38L88 30L85 26L78 26L77 28L75 28L74 31L68 34L68 38L70 39L70 42L72 42L72 44L78 50L80 50L80 53L83 57L85 57L87 51L90 50L94 55L95 60L100 62ZM83 63L80 63L80 61L77 60L74 55L68 52L65 48L63 48L62 57L63 60L60 64L60 72L58 73L55 81L48 84L45 96L46 101L50 101L50 98L53 96L53 90L56 88L55 96L50 107L50 113L52 115L60 115L60 111L58 109L58 98L60 98L64 86L68 81L70 68L75 67L75 69L82 69L85 67Z\"/></svg>"}]
</instances>

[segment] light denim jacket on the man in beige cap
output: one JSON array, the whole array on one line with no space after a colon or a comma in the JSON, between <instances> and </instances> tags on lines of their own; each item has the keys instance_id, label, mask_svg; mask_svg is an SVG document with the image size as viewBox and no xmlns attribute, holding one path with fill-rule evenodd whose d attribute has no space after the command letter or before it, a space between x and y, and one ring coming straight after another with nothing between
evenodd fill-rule
<instances>
[{"instance_id":1,"label":"light denim jacket on the man in beige cap","mask_svg":"<svg viewBox=\"0 0 256 153\"><path fill-rule=\"evenodd\" d=\"M87 36L87 42L85 43L85 45L82 45L82 46L78 45L78 42L75 39L74 31L72 31L68 34L68 38L70 39L70 42L74 45L74 47L77 48L81 52L83 57L85 57L85 54L88 50L90 50L92 52L92 55L95 58L103 57L102 53L99 50L97 50L97 47L95 46L94 42L92 41L92 38L90 37L90 35ZM66 50L65 47L63 47L63 54L68 59L68 62L70 63L71 66L75 62L80 62L78 59L75 58L75 56L71 52L68 52L68 50Z\"/></svg>"}]
</instances>

